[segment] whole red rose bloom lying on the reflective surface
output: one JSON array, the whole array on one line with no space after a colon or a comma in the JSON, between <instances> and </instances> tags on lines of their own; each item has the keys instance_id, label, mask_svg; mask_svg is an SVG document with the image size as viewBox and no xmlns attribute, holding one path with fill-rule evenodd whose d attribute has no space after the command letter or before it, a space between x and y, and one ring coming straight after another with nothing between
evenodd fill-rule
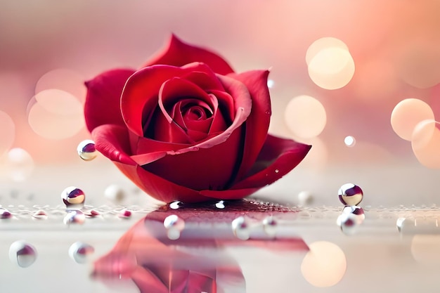
<instances>
[{"instance_id":1,"label":"whole red rose bloom lying on the reflective surface","mask_svg":"<svg viewBox=\"0 0 440 293\"><path fill-rule=\"evenodd\" d=\"M268 134L268 70L235 73L174 35L138 70L86 82L96 149L163 202L246 197L302 161L310 145Z\"/></svg>"}]
</instances>

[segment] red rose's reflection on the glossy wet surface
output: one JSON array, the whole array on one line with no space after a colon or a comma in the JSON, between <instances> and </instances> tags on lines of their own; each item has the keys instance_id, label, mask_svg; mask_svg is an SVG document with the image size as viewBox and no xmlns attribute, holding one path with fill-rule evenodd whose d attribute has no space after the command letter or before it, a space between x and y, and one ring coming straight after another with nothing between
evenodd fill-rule
<instances>
[{"instance_id":1,"label":"red rose's reflection on the glossy wet surface","mask_svg":"<svg viewBox=\"0 0 440 293\"><path fill-rule=\"evenodd\" d=\"M255 204L247 200L185 205L178 210L161 207L138 221L115 247L94 263L93 277L103 280L132 280L140 292L226 293L246 292L245 278L228 247L264 247L274 252L308 250L298 237L276 240L267 237L242 241L233 236L231 221L247 216L261 221L269 214L295 216L282 207ZM178 240L169 240L163 221L176 214L186 221Z\"/></svg>"}]
</instances>

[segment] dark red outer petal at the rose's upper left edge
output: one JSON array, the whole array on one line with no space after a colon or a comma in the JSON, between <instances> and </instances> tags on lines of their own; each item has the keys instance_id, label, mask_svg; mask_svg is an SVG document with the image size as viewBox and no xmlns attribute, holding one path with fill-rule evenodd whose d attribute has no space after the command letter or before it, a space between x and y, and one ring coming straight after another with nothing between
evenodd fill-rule
<instances>
[{"instance_id":1,"label":"dark red outer petal at the rose's upper left edge","mask_svg":"<svg viewBox=\"0 0 440 293\"><path fill-rule=\"evenodd\" d=\"M102 124L124 125L121 115L121 93L134 70L118 69L103 72L86 82L87 96L84 117L91 132Z\"/></svg>"}]
</instances>

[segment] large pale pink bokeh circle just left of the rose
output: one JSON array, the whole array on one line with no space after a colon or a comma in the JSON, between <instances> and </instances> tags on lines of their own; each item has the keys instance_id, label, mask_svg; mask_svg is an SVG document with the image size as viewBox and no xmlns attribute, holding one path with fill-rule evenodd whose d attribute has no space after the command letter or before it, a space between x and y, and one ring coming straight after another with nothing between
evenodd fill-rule
<instances>
[{"instance_id":1,"label":"large pale pink bokeh circle just left of the rose","mask_svg":"<svg viewBox=\"0 0 440 293\"><path fill-rule=\"evenodd\" d=\"M69 138L84 127L82 103L66 91L40 91L30 100L27 109L32 130L44 138Z\"/></svg>"}]
</instances>

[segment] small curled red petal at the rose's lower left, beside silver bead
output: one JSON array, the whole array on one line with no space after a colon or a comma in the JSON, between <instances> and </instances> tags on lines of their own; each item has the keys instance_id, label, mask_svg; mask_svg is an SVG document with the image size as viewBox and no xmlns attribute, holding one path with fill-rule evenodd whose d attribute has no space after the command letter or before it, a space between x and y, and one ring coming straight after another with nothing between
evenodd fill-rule
<instances>
[{"instance_id":1,"label":"small curled red petal at the rose's lower left, beside silver bead","mask_svg":"<svg viewBox=\"0 0 440 293\"><path fill-rule=\"evenodd\" d=\"M104 124L91 131L96 150L114 162L136 165L129 157L129 134L123 126Z\"/></svg>"}]
</instances>

